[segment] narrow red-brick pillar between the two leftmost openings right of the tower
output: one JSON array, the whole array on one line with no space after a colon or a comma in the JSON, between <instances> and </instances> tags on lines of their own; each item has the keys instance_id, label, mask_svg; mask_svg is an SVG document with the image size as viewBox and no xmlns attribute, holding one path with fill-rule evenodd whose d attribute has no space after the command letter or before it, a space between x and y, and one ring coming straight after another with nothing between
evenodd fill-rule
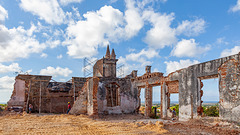
<instances>
[{"instance_id":1,"label":"narrow red-brick pillar between the two leftmost openings right of the tower","mask_svg":"<svg viewBox=\"0 0 240 135\"><path fill-rule=\"evenodd\" d=\"M145 116L150 116L152 108L152 87L145 87Z\"/></svg>"}]
</instances>

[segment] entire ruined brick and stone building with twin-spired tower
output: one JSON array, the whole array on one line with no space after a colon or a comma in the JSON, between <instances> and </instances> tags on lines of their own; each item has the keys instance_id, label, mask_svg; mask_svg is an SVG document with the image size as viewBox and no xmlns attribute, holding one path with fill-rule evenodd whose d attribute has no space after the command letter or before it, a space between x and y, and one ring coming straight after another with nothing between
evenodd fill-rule
<instances>
[{"instance_id":1,"label":"entire ruined brick and stone building with twin-spired tower","mask_svg":"<svg viewBox=\"0 0 240 135\"><path fill-rule=\"evenodd\" d=\"M161 86L161 117L169 115L170 96L179 94L179 120L201 117L202 80L218 78L220 118L240 121L240 54L196 64L163 76L161 72L137 71L124 78L116 77L118 59L114 50L93 66L93 77L72 77L68 82L53 82L51 76L18 75L8 106L27 109L33 104L36 112L65 113L66 103L73 104L71 114L138 113L140 93L145 90L145 115L152 107L152 88Z\"/></svg>"}]
</instances>

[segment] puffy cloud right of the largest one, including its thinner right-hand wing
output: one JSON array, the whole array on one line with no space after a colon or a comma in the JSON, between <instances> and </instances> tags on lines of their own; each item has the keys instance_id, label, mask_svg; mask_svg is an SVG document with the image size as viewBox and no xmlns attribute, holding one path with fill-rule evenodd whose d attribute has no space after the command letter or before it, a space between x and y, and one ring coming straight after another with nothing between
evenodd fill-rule
<instances>
[{"instance_id":1,"label":"puffy cloud right of the largest one, including its thinner right-hand wing","mask_svg":"<svg viewBox=\"0 0 240 135\"><path fill-rule=\"evenodd\" d=\"M206 22L199 18L194 21L185 20L174 28L171 26L175 19L174 13L156 13L149 9L143 11L143 19L152 25L144 41L149 47L155 49L175 45L179 35L197 36L203 33L206 27Z\"/></svg>"}]
</instances>

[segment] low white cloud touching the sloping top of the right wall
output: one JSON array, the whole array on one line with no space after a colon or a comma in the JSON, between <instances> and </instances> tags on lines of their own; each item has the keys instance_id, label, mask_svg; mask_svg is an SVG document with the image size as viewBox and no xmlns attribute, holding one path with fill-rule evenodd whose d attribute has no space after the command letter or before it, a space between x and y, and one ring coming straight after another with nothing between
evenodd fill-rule
<instances>
[{"instance_id":1,"label":"low white cloud touching the sloping top of the right wall","mask_svg":"<svg viewBox=\"0 0 240 135\"><path fill-rule=\"evenodd\" d=\"M165 61L164 63L167 65L166 74L169 74L169 73L174 72L176 70L186 68L190 65L198 64L200 62L197 61L197 60L191 61L191 60L187 59L187 60L180 60L179 62L177 62L177 61L169 61L169 62Z\"/></svg>"}]
</instances>

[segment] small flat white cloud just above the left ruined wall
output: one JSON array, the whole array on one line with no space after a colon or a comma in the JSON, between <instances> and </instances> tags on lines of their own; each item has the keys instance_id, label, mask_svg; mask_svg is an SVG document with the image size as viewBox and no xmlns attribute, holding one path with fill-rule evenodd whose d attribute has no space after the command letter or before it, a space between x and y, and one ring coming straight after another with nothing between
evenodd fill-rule
<instances>
[{"instance_id":1,"label":"small flat white cloud just above the left ruined wall","mask_svg":"<svg viewBox=\"0 0 240 135\"><path fill-rule=\"evenodd\" d=\"M46 69L41 69L41 75L52 75L53 77L64 76L68 77L72 73L72 70L69 68L61 68L61 67L47 67Z\"/></svg>"}]
</instances>

